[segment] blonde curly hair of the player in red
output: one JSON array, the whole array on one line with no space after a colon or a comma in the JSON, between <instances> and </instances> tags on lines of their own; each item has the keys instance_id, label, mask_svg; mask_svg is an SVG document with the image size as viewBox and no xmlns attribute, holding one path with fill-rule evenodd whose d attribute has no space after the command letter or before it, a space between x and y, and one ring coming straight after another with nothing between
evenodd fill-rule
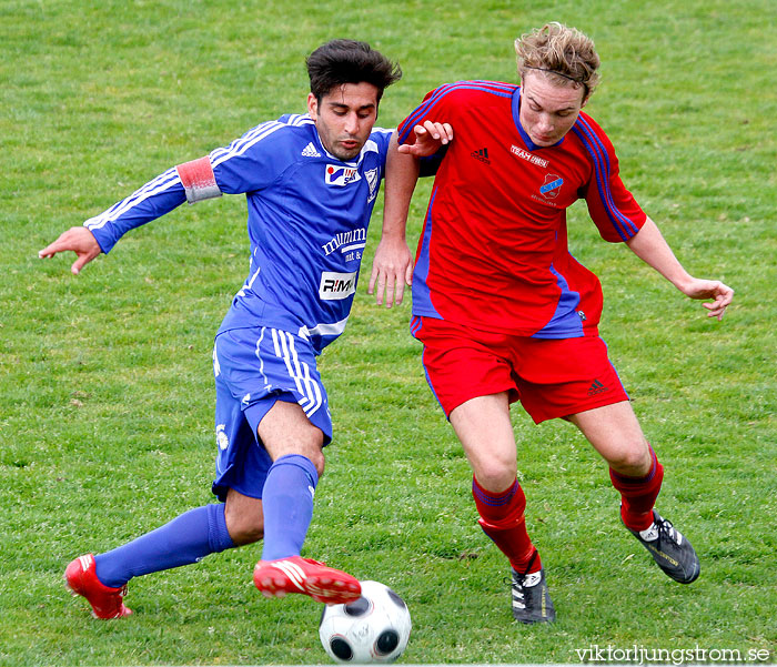
<instances>
[{"instance_id":1,"label":"blonde curly hair of the player in red","mask_svg":"<svg viewBox=\"0 0 777 667\"><path fill-rule=\"evenodd\" d=\"M587 99L599 82L599 57L593 40L576 28L553 21L515 40L518 75L545 72L559 85L584 89Z\"/></svg>"}]
</instances>

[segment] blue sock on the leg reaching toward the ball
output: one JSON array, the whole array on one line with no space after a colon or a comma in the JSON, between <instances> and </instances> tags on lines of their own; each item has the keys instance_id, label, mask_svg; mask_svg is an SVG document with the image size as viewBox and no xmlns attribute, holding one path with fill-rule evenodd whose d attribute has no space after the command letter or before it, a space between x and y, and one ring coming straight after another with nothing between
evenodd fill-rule
<instances>
[{"instance_id":1,"label":"blue sock on the leg reaching toward the ball","mask_svg":"<svg viewBox=\"0 0 777 667\"><path fill-rule=\"evenodd\" d=\"M275 461L264 482L264 548L262 560L299 556L313 518L319 473L306 456L289 454Z\"/></svg>"}]
</instances>

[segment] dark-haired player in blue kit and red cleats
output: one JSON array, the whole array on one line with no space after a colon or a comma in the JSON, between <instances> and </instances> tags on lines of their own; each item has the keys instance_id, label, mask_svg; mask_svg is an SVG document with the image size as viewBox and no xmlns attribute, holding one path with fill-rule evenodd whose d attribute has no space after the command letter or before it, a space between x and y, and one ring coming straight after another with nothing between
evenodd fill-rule
<instances>
[{"instance_id":1,"label":"dark-haired player in blue kit and red cleats","mask_svg":"<svg viewBox=\"0 0 777 667\"><path fill-rule=\"evenodd\" d=\"M168 170L39 253L74 251L71 271L79 273L125 232L184 201L246 196L250 272L213 347L220 503L72 560L65 582L99 618L131 613L123 596L132 577L259 539L253 579L263 595L301 593L323 603L360 595L355 577L300 554L324 468L322 447L332 438L315 357L343 332L380 183L386 172L392 179L391 131L374 123L383 91L401 70L350 40L320 47L306 64L307 114L262 123ZM432 125L420 130L418 155L438 148ZM391 280L406 271L398 266Z\"/></svg>"}]
</instances>

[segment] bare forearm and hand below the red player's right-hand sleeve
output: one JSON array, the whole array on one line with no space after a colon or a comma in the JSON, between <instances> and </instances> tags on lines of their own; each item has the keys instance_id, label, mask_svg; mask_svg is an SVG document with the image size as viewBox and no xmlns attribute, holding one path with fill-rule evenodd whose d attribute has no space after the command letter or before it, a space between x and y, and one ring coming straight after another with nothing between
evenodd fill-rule
<instances>
[{"instance_id":1,"label":"bare forearm and hand below the red player's right-hand sleeve","mask_svg":"<svg viewBox=\"0 0 777 667\"><path fill-rule=\"evenodd\" d=\"M634 254L653 266L686 296L712 300L702 304L709 311L707 316L723 319L726 307L734 300L734 290L720 281L703 280L690 275L683 269L656 223L649 218L639 232L626 243Z\"/></svg>"}]
</instances>

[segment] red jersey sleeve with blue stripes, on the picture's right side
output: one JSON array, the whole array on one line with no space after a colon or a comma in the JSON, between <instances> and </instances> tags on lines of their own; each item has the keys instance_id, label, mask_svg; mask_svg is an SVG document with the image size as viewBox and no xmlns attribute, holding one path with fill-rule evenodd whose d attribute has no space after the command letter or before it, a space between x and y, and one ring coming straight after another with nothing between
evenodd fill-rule
<instances>
[{"instance_id":1,"label":"red jersey sleeve with blue stripes, on the picture's right side","mask_svg":"<svg viewBox=\"0 0 777 667\"><path fill-rule=\"evenodd\" d=\"M585 114L581 114L574 131L592 163L592 176L582 193L588 213L605 241L628 241L645 224L647 215L620 180L615 149L604 131Z\"/></svg>"}]
</instances>

